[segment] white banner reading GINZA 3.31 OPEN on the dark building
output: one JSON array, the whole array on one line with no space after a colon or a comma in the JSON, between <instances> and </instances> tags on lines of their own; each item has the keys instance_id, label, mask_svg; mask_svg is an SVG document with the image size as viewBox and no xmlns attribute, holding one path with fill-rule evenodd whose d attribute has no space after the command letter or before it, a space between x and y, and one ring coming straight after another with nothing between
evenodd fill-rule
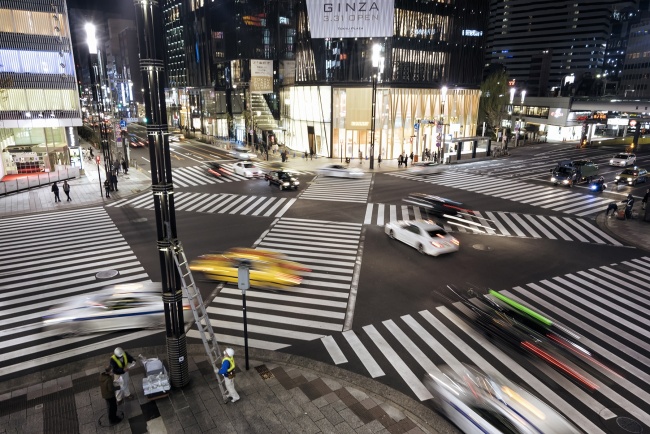
<instances>
[{"instance_id":1,"label":"white banner reading GINZA 3.31 OPEN on the dark building","mask_svg":"<svg viewBox=\"0 0 650 434\"><path fill-rule=\"evenodd\" d=\"M307 0L312 38L393 36L394 0Z\"/></svg>"}]
</instances>

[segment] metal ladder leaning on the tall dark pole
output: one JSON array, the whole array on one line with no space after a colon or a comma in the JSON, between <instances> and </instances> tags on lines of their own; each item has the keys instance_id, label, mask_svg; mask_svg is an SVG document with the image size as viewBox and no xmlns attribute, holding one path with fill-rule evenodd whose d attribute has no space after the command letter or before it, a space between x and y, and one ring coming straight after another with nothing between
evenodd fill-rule
<instances>
[{"instance_id":1,"label":"metal ladder leaning on the tall dark pole","mask_svg":"<svg viewBox=\"0 0 650 434\"><path fill-rule=\"evenodd\" d=\"M178 269L178 274L181 276L183 294L187 297L192 308L194 322L196 323L196 327L201 335L201 340L203 341L203 346L205 347L205 352L210 360L210 365L212 366L214 375L217 378L219 390L221 390L221 396L223 397L224 402L226 402L228 400L228 393L226 392L223 377L219 375L222 353L219 349L219 343L214 335L214 331L212 330L212 324L210 324L208 313L205 311L203 298L201 297L199 289L196 287L196 283L194 283L194 277L192 277L192 271L190 270L187 257L185 256L180 241L176 241L172 244L171 251L174 257L174 263Z\"/></svg>"}]
</instances>

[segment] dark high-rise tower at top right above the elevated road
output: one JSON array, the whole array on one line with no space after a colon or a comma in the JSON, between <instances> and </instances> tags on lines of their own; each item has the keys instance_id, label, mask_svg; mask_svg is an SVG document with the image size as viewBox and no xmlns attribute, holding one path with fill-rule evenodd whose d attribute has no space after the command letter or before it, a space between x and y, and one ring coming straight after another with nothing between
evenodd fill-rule
<instances>
[{"instance_id":1,"label":"dark high-rise tower at top right above the elevated road","mask_svg":"<svg viewBox=\"0 0 650 434\"><path fill-rule=\"evenodd\" d=\"M638 0L491 0L486 61L500 63L529 96L546 96L567 76L606 69L616 11Z\"/></svg>"}]
</instances>

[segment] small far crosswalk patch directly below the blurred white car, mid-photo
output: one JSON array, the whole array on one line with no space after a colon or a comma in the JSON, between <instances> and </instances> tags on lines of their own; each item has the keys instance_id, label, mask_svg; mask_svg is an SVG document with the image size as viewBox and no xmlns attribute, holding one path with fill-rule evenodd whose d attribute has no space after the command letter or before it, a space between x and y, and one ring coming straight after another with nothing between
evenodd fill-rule
<instances>
[{"instance_id":1,"label":"small far crosswalk patch directly below the blurred white car, mid-photo","mask_svg":"<svg viewBox=\"0 0 650 434\"><path fill-rule=\"evenodd\" d=\"M366 203L371 186L371 177L362 179L319 177L300 194L300 199Z\"/></svg>"}]
</instances>

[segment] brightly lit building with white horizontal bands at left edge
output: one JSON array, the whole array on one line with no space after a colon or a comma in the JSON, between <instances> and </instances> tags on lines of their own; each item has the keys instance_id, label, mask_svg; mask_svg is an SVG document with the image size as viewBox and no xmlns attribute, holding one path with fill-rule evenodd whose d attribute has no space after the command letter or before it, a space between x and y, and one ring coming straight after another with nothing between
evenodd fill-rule
<instances>
[{"instance_id":1,"label":"brightly lit building with white horizontal bands at left edge","mask_svg":"<svg viewBox=\"0 0 650 434\"><path fill-rule=\"evenodd\" d=\"M0 178L79 165L80 125L65 0L0 0Z\"/></svg>"}]
</instances>

